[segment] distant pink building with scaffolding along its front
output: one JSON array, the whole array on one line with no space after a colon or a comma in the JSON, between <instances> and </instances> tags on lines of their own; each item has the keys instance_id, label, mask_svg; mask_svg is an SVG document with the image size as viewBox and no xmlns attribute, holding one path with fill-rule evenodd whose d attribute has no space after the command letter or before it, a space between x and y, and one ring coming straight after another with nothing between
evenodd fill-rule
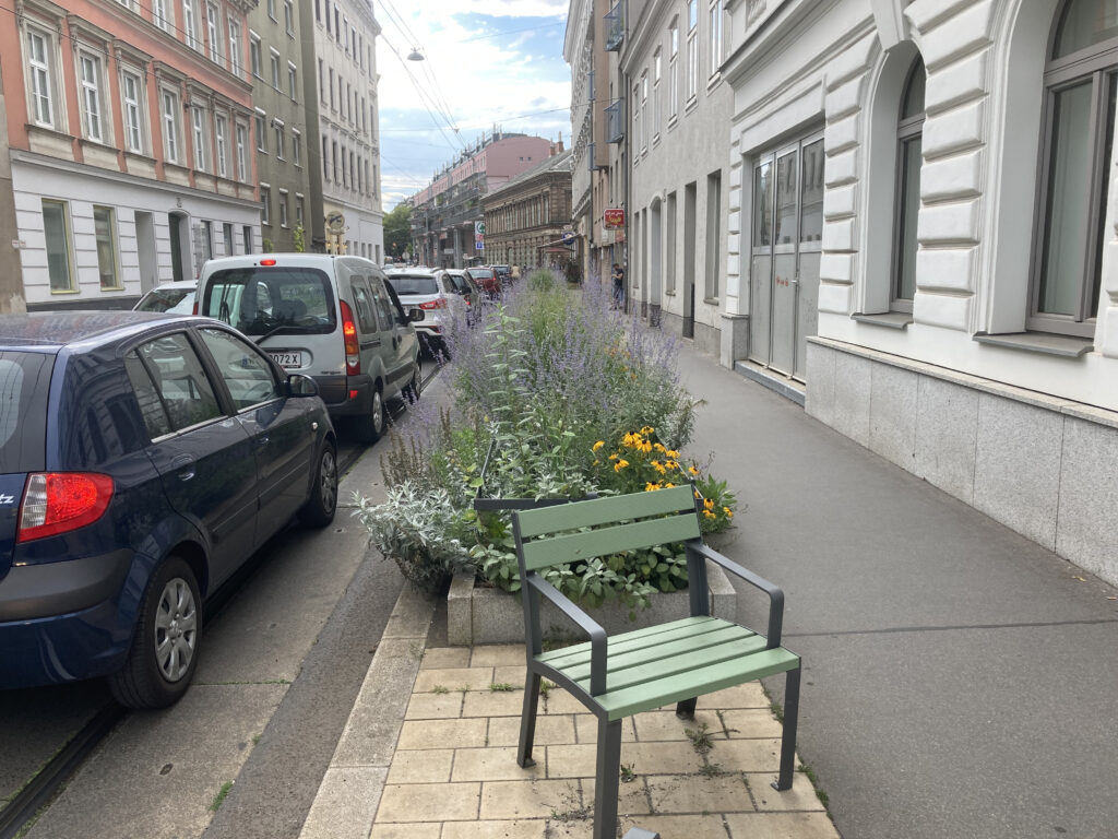
<instances>
[{"instance_id":1,"label":"distant pink building with scaffolding along its front","mask_svg":"<svg viewBox=\"0 0 1118 839\"><path fill-rule=\"evenodd\" d=\"M442 267L490 260L484 241L475 239L476 225L483 220L484 197L546 160L551 148L551 141L541 136L505 134L495 129L462 151L430 186L411 198L414 258Z\"/></svg>"}]
</instances>

